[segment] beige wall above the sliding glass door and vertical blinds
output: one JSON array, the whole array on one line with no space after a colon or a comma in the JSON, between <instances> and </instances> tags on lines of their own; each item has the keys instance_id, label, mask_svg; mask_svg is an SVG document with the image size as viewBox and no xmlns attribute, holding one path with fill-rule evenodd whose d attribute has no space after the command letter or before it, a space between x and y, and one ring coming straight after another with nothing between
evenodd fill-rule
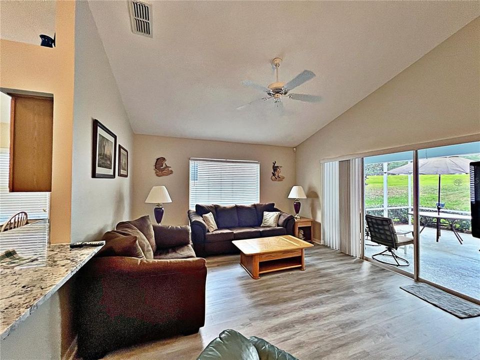
<instances>
[{"instance_id":1,"label":"beige wall above the sliding glass door and vertical blinds","mask_svg":"<svg viewBox=\"0 0 480 360\"><path fill-rule=\"evenodd\" d=\"M320 220L322 159L480 133L479 79L476 18L297 146L301 213Z\"/></svg>"}]
</instances>

